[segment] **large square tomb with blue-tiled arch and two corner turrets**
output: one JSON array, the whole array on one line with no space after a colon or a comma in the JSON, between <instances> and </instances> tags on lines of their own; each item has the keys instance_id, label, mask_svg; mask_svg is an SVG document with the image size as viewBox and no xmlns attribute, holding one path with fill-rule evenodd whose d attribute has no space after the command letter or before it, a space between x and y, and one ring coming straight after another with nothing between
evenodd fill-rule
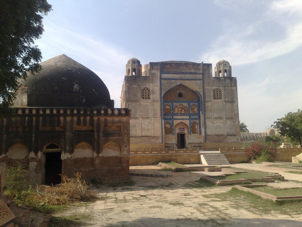
<instances>
[{"instance_id":1,"label":"large square tomb with blue-tiled arch and two corner turrets","mask_svg":"<svg viewBox=\"0 0 302 227\"><path fill-rule=\"evenodd\" d=\"M121 107L131 109L130 150L240 147L237 80L230 63L126 64Z\"/></svg>"}]
</instances>

